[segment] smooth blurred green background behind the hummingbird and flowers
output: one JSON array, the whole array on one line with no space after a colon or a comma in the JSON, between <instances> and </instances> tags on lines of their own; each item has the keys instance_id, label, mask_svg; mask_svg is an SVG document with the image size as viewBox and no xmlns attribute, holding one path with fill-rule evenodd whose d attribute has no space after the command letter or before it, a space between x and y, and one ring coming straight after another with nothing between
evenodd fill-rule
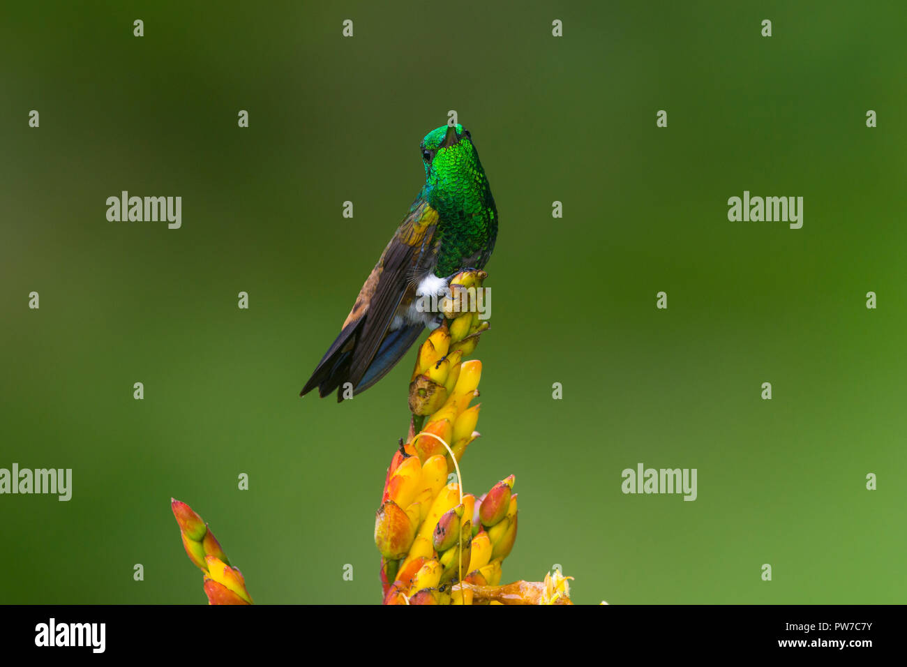
<instances>
[{"instance_id":1,"label":"smooth blurred green background behind the hummingbird and flowers","mask_svg":"<svg viewBox=\"0 0 907 667\"><path fill-rule=\"evenodd\" d=\"M379 601L414 352L297 394L454 109L501 217L463 476L516 476L503 578L902 603L907 10L791 5L3 5L0 467L72 467L73 499L0 496L0 602L205 602L171 496L258 603ZM180 195L182 228L106 221L122 190ZM803 196L803 229L727 221L744 190ZM697 468L697 501L621 494L639 462Z\"/></svg>"}]
</instances>

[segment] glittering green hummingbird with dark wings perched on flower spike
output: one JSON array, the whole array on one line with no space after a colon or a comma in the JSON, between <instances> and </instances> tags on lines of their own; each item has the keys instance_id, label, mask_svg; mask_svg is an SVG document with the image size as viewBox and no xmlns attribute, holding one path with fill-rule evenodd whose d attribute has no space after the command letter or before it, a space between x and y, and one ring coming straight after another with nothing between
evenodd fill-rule
<instances>
[{"instance_id":1,"label":"glittering green hummingbird with dark wings perched on flower spike","mask_svg":"<svg viewBox=\"0 0 907 667\"><path fill-rule=\"evenodd\" d=\"M482 269L491 257L498 211L472 135L459 123L442 125L419 149L425 184L299 396L318 387L323 398L336 389L339 403L345 387L353 396L372 387L423 329L443 322L417 304L444 296L457 273Z\"/></svg>"}]
</instances>

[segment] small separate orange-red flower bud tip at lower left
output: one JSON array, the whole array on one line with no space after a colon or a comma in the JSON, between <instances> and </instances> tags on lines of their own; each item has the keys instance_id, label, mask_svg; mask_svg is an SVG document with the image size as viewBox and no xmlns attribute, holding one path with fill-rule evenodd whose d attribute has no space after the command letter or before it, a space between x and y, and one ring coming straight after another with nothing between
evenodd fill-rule
<instances>
[{"instance_id":1,"label":"small separate orange-red flower bud tip at lower left","mask_svg":"<svg viewBox=\"0 0 907 667\"><path fill-rule=\"evenodd\" d=\"M190 561L204 574L203 585L209 604L251 604L246 580L239 567L229 564L227 554L208 524L189 505L171 498L171 509L180 525L182 544Z\"/></svg>"}]
</instances>

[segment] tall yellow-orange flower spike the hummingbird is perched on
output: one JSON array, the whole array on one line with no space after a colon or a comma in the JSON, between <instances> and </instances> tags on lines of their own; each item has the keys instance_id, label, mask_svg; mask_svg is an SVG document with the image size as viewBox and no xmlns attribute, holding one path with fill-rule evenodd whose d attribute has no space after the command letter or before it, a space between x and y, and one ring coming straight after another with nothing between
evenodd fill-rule
<instances>
[{"instance_id":1,"label":"tall yellow-orange flower spike the hummingbird is perched on","mask_svg":"<svg viewBox=\"0 0 907 667\"><path fill-rule=\"evenodd\" d=\"M454 294L480 289L486 275L462 271L450 287ZM445 484L450 473L458 472L466 446L479 436L480 405L470 404L479 396L482 363L463 357L488 329L478 313L458 310L453 301L444 300L444 323L416 356L409 439L391 461L375 514L384 603L571 603L560 573L544 582L501 585L502 562L517 534L514 476L481 498L464 495L459 480Z\"/></svg>"}]
</instances>

